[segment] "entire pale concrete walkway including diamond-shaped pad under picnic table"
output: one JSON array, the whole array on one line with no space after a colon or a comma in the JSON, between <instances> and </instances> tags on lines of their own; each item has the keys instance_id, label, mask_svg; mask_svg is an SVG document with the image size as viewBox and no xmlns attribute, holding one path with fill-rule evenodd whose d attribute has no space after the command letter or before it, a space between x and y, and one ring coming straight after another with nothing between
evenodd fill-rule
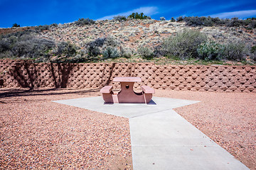
<instances>
[{"instance_id":1,"label":"entire pale concrete walkway including diamond-shaped pad under picnic table","mask_svg":"<svg viewBox=\"0 0 256 170\"><path fill-rule=\"evenodd\" d=\"M54 101L129 118L133 169L247 169L173 108L199 101L153 97L149 104L104 104L102 97Z\"/></svg>"}]
</instances>

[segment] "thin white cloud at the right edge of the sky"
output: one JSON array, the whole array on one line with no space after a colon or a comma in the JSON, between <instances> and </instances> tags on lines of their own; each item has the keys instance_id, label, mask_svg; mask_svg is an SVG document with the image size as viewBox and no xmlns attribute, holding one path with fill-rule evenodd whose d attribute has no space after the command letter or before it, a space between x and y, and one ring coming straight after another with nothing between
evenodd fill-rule
<instances>
[{"instance_id":1,"label":"thin white cloud at the right edge of the sky","mask_svg":"<svg viewBox=\"0 0 256 170\"><path fill-rule=\"evenodd\" d=\"M227 13L216 13L210 15L211 17L219 17L219 18L248 18L256 15L256 10L247 10L247 11L233 11Z\"/></svg>"}]
</instances>

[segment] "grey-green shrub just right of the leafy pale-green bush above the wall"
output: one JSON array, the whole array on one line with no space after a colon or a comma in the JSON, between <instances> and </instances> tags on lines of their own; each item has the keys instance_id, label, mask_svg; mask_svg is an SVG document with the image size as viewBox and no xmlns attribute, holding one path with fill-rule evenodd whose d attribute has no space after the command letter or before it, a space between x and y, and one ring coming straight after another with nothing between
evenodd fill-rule
<instances>
[{"instance_id":1,"label":"grey-green shrub just right of the leafy pale-green bush above the wall","mask_svg":"<svg viewBox=\"0 0 256 170\"><path fill-rule=\"evenodd\" d=\"M229 40L224 47L223 57L226 60L242 61L245 60L248 48L241 40Z\"/></svg>"}]
</instances>

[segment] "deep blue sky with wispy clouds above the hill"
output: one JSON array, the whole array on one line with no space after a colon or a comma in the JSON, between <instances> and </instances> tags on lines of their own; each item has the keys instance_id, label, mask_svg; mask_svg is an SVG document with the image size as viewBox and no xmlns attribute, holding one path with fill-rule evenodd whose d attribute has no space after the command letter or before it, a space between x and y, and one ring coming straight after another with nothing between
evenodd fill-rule
<instances>
[{"instance_id":1,"label":"deep blue sky with wispy clouds above the hill","mask_svg":"<svg viewBox=\"0 0 256 170\"><path fill-rule=\"evenodd\" d=\"M143 12L159 20L178 16L213 16L220 18L256 17L255 0L242 1L151 1L151 0L0 0L0 28L14 23L21 26L39 26L51 23L70 23L78 18L111 19Z\"/></svg>"}]
</instances>

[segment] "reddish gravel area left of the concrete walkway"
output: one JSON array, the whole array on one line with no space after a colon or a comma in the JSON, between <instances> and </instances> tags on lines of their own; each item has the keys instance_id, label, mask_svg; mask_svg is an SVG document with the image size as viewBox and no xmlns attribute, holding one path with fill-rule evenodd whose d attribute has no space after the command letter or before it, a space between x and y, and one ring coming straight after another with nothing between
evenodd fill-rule
<instances>
[{"instance_id":1,"label":"reddish gravel area left of the concrete walkway","mask_svg":"<svg viewBox=\"0 0 256 170\"><path fill-rule=\"evenodd\" d=\"M97 95L0 89L0 169L132 169L127 118L51 102Z\"/></svg>"}]
</instances>

